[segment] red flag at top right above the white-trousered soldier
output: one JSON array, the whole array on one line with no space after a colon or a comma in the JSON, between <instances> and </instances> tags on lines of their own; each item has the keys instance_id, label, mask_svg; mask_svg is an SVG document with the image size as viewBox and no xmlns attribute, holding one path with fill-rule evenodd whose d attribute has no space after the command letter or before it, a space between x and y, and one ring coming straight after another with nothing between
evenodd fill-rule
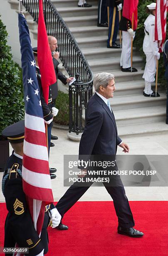
<instances>
[{"instance_id":1,"label":"red flag at top right above the white-trousered soldier","mask_svg":"<svg viewBox=\"0 0 168 256\"><path fill-rule=\"evenodd\" d=\"M132 22L132 14L133 15L133 30L137 28L137 20L138 20L138 0L124 0L123 5L123 17L131 20Z\"/></svg>"}]
</instances>

